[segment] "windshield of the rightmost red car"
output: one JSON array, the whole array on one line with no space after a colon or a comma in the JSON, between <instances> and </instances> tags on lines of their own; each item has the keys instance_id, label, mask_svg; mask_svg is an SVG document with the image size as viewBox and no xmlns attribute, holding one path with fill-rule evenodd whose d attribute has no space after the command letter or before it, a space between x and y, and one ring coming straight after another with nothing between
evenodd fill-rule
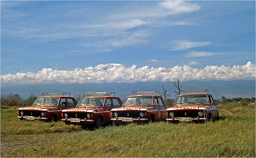
<instances>
[{"instance_id":1,"label":"windshield of the rightmost red car","mask_svg":"<svg viewBox=\"0 0 256 158\"><path fill-rule=\"evenodd\" d=\"M208 105L207 95L204 94L192 94L178 96L174 106L180 105Z\"/></svg>"}]
</instances>

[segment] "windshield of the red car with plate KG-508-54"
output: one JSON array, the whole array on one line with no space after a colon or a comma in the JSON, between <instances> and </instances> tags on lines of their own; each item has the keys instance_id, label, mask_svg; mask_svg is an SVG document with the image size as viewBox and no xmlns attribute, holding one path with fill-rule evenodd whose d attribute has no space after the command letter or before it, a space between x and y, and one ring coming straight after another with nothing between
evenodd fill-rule
<instances>
[{"instance_id":1,"label":"windshield of the red car with plate KG-508-54","mask_svg":"<svg viewBox=\"0 0 256 158\"><path fill-rule=\"evenodd\" d=\"M152 106L153 97L152 96L128 96L124 100L122 106L134 106L134 105L142 105L142 106Z\"/></svg>"}]
</instances>

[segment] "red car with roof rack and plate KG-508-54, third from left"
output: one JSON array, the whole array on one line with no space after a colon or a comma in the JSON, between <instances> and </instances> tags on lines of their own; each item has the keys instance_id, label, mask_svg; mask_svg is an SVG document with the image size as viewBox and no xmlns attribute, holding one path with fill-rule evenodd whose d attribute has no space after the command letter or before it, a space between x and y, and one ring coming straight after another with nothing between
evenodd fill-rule
<instances>
[{"instance_id":1,"label":"red car with roof rack and plate KG-508-54, third from left","mask_svg":"<svg viewBox=\"0 0 256 158\"><path fill-rule=\"evenodd\" d=\"M167 106L158 91L131 91L122 107L112 109L110 115L115 124L147 123L165 120L166 109Z\"/></svg>"}]
</instances>

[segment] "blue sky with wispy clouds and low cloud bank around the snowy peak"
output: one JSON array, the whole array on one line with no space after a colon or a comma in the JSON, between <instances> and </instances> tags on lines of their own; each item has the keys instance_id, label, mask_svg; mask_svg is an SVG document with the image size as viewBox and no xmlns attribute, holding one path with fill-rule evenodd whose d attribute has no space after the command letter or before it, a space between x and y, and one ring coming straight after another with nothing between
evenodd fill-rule
<instances>
[{"instance_id":1,"label":"blue sky with wispy clouds and low cloud bank around the snowy peak","mask_svg":"<svg viewBox=\"0 0 256 158\"><path fill-rule=\"evenodd\" d=\"M1 86L255 80L255 1L0 7Z\"/></svg>"}]
</instances>

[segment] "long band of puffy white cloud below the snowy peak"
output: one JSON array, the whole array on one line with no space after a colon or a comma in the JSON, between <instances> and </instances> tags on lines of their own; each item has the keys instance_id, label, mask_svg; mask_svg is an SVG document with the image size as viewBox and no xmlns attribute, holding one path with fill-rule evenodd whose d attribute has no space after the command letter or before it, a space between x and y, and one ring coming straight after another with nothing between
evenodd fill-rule
<instances>
[{"instance_id":1,"label":"long band of puffy white cloud below the snowy peak","mask_svg":"<svg viewBox=\"0 0 256 158\"><path fill-rule=\"evenodd\" d=\"M39 72L2 75L1 84L173 82L177 79L181 81L255 80L255 64L249 61L243 66L206 66L203 69L178 65L172 68L149 66L136 68L136 65L133 65L130 68L114 66L108 69L90 66L71 71L43 68Z\"/></svg>"}]
</instances>

